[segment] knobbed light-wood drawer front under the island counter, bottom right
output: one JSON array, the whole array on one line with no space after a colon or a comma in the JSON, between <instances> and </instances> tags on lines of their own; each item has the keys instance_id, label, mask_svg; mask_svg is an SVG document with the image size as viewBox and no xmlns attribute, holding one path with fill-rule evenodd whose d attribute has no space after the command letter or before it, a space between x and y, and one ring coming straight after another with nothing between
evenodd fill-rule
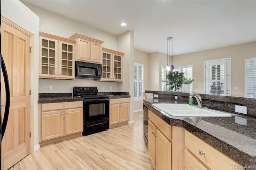
<instances>
[{"instance_id":1,"label":"knobbed light-wood drawer front under the island counter, bottom right","mask_svg":"<svg viewBox=\"0 0 256 170\"><path fill-rule=\"evenodd\" d=\"M185 130L185 147L210 169L230 169L230 165L241 166L187 130ZM205 153L200 155L199 150Z\"/></svg>"}]
</instances>

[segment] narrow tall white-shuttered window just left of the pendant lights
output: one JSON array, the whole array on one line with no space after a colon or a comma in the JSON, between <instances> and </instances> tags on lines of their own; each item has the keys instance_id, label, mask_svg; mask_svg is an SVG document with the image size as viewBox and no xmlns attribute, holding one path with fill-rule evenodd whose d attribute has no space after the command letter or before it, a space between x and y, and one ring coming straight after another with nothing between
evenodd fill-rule
<instances>
[{"instance_id":1,"label":"narrow tall white-shuttered window just left of the pendant lights","mask_svg":"<svg viewBox=\"0 0 256 170\"><path fill-rule=\"evenodd\" d=\"M144 92L144 65L134 63L134 99L142 99Z\"/></svg>"}]
</instances>

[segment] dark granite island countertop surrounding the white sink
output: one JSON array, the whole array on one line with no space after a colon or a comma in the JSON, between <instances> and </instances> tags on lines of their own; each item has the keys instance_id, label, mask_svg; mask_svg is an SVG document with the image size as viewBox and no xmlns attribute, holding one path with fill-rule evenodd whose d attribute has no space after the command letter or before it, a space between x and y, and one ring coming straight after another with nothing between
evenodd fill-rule
<instances>
[{"instance_id":1,"label":"dark granite island countertop surrounding the white sink","mask_svg":"<svg viewBox=\"0 0 256 170\"><path fill-rule=\"evenodd\" d=\"M144 99L144 103L168 124L183 127L243 166L256 168L256 118L234 113L231 117L173 117L151 104L184 102Z\"/></svg>"}]
</instances>

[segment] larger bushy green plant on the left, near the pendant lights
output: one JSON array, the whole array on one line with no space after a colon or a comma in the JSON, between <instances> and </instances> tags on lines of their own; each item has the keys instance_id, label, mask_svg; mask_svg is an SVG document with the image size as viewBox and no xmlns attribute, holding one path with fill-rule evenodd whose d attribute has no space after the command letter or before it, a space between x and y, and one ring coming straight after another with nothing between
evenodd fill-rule
<instances>
[{"instance_id":1,"label":"larger bushy green plant on the left, near the pendant lights","mask_svg":"<svg viewBox=\"0 0 256 170\"><path fill-rule=\"evenodd\" d=\"M170 71L166 78L170 81L167 85L170 85L169 91L178 91L185 79L184 73L179 71Z\"/></svg>"}]
</instances>

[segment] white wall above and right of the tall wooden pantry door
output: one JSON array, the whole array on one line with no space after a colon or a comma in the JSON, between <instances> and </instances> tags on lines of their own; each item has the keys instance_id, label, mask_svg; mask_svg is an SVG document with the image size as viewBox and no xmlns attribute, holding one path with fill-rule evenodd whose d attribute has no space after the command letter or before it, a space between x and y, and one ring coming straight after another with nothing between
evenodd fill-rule
<instances>
[{"instance_id":1,"label":"white wall above and right of the tall wooden pantry door","mask_svg":"<svg viewBox=\"0 0 256 170\"><path fill-rule=\"evenodd\" d=\"M36 16L30 9L18 0L1 0L1 14L14 22L18 26L24 28L28 32L34 34L34 56L33 70L34 75L31 75L34 81L31 82L33 87L32 94L34 101L31 103L34 106L34 146L39 141L38 128L38 56L39 56L39 17Z\"/></svg>"}]
</instances>

